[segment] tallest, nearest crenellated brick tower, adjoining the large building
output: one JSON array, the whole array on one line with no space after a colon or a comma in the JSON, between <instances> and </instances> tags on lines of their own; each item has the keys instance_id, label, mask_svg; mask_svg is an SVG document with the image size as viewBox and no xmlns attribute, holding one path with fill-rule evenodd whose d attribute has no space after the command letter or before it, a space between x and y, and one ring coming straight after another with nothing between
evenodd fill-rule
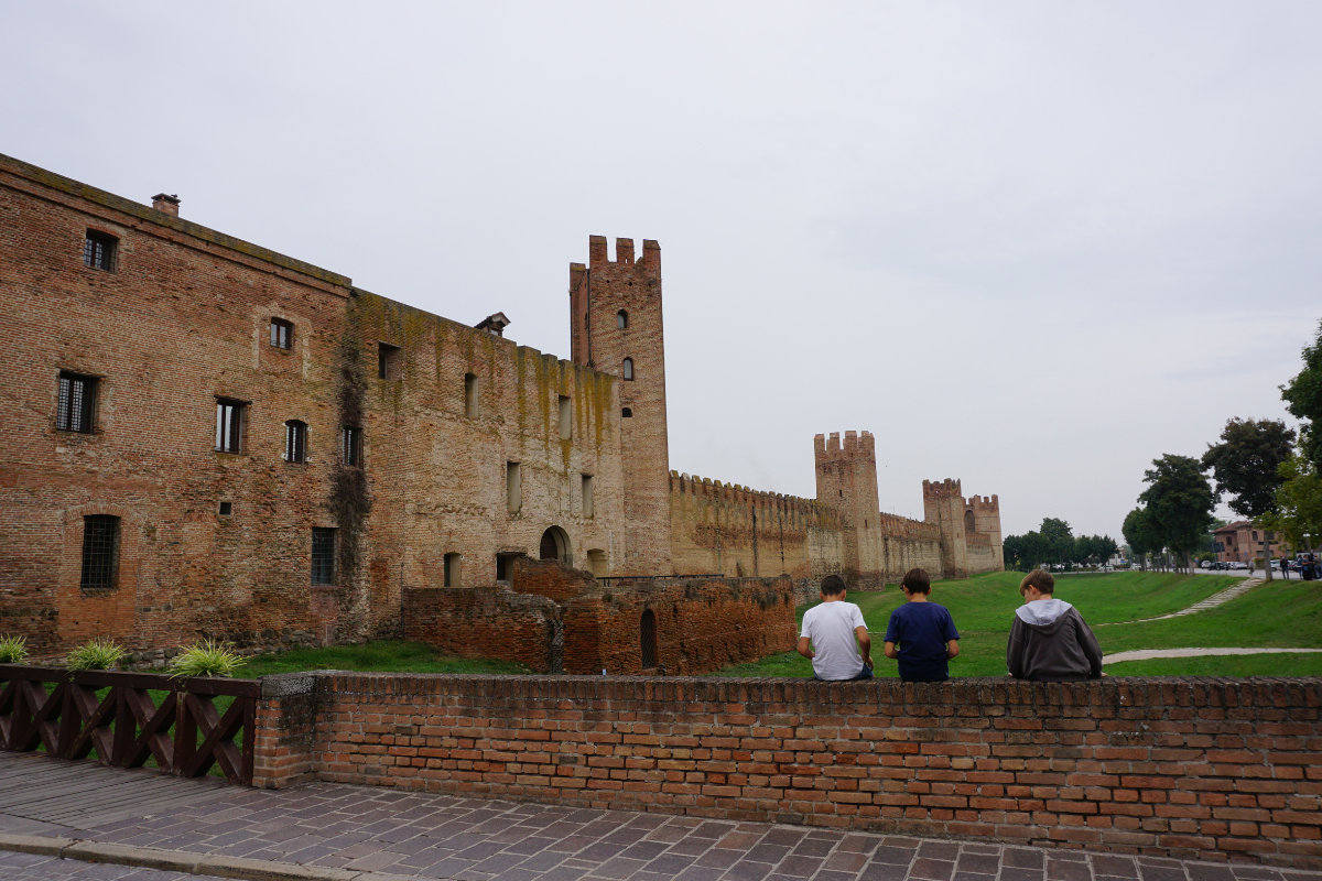
<instances>
[{"instance_id":1,"label":"tallest, nearest crenellated brick tower, adjoining the large building","mask_svg":"<svg viewBox=\"0 0 1322 881\"><path fill-rule=\"evenodd\" d=\"M661 246L588 236L588 264L570 264L574 362L619 378L625 559L612 575L670 575L670 452L661 321Z\"/></svg>"}]
</instances>

